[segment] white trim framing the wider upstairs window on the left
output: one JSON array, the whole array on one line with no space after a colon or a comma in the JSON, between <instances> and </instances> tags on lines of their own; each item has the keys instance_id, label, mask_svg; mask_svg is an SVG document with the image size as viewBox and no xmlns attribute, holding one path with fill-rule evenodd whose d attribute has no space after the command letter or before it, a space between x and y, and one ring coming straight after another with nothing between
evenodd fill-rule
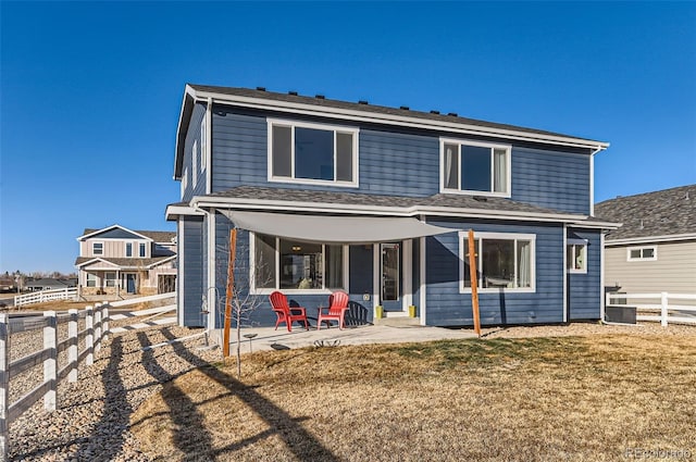
<instances>
[{"instance_id":1,"label":"white trim framing the wider upstairs window on the left","mask_svg":"<svg viewBox=\"0 0 696 462\"><path fill-rule=\"evenodd\" d=\"M270 183L294 183L298 185L323 185L323 186L339 186L344 188L357 188L359 186L359 177L360 177L360 153L358 152L358 137L360 135L360 128L349 127L345 125L328 125L328 124L318 124L310 122L297 122L284 118L266 118L268 125L268 152L266 152L266 165L268 165L268 180ZM352 134L352 182L339 182L336 179L311 179L311 178L295 178L287 176L273 176L273 125L281 125L286 127L302 127L302 128L314 128L321 130L332 130L334 133L350 133ZM293 175L295 175L295 129L290 133L290 153L293 159L290 159L290 171ZM334 178L336 177L336 136L334 135Z\"/></svg>"}]
</instances>

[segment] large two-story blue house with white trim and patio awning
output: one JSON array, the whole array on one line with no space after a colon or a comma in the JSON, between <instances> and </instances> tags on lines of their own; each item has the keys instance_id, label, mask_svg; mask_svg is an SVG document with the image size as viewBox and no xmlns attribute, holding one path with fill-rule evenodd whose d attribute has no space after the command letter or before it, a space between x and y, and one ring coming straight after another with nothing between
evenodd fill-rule
<instances>
[{"instance_id":1,"label":"large two-story blue house with white trim and patio awning","mask_svg":"<svg viewBox=\"0 0 696 462\"><path fill-rule=\"evenodd\" d=\"M181 197L166 210L179 323L220 325L235 226L235 284L262 298L259 325L273 325L273 290L312 317L335 289L369 321L376 305L387 316L414 305L423 325L472 325L469 229L483 324L598 320L602 232L616 225L593 217L593 171L607 147L452 113L187 85Z\"/></svg>"}]
</instances>

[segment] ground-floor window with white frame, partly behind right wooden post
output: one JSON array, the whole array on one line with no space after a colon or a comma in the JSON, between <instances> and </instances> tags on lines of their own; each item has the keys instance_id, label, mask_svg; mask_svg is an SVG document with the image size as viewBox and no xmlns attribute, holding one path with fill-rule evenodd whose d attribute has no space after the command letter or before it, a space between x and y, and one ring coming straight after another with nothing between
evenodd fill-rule
<instances>
[{"instance_id":1,"label":"ground-floor window with white frame, partly behind right wooden post","mask_svg":"<svg viewBox=\"0 0 696 462\"><path fill-rule=\"evenodd\" d=\"M535 274L534 235L508 233L476 233L477 287L482 291L499 289L534 290ZM469 266L469 239L460 232L461 291L471 291L471 270Z\"/></svg>"}]
</instances>

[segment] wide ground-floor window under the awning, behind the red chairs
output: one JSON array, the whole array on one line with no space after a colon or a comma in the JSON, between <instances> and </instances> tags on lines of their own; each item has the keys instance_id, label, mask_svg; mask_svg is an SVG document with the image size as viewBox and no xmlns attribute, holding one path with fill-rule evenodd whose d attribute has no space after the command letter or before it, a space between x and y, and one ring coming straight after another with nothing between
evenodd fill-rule
<instances>
[{"instance_id":1,"label":"wide ground-floor window under the awning, behind the red chairs","mask_svg":"<svg viewBox=\"0 0 696 462\"><path fill-rule=\"evenodd\" d=\"M254 236L253 279L259 289L343 289L344 247Z\"/></svg>"}]
</instances>

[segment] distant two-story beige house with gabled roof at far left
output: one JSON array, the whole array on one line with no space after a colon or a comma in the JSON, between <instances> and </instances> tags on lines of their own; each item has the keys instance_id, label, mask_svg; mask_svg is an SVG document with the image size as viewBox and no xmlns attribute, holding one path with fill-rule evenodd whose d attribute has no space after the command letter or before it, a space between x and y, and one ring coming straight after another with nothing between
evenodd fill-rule
<instances>
[{"instance_id":1,"label":"distant two-story beige house with gabled roof at far left","mask_svg":"<svg viewBox=\"0 0 696 462\"><path fill-rule=\"evenodd\" d=\"M175 290L176 233L120 225L85 229L75 261L82 296L154 295Z\"/></svg>"}]
</instances>

